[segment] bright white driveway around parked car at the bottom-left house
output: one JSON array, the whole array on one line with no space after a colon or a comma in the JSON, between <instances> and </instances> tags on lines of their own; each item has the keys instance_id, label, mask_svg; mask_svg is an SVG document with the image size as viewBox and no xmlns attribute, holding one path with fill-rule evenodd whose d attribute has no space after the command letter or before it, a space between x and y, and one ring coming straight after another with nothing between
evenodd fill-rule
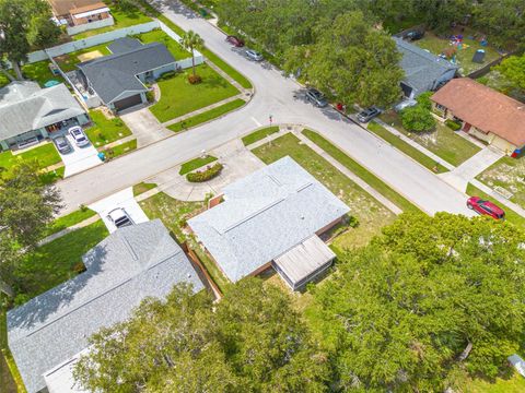
<instances>
[{"instance_id":1,"label":"bright white driveway around parked car at the bottom-left house","mask_svg":"<svg viewBox=\"0 0 525 393\"><path fill-rule=\"evenodd\" d=\"M110 234L117 230L115 225L107 217L107 214L114 209L122 207L135 224L150 221L135 200L133 189L131 187L116 192L110 196L104 198L88 207L98 213Z\"/></svg>"}]
</instances>

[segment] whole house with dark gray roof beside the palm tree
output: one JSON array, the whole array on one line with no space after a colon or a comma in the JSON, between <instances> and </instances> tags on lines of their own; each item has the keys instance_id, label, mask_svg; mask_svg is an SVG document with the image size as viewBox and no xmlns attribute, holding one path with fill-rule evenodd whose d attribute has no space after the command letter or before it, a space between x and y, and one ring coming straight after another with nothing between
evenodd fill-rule
<instances>
[{"instance_id":1,"label":"whole house with dark gray roof beside the palm tree","mask_svg":"<svg viewBox=\"0 0 525 393\"><path fill-rule=\"evenodd\" d=\"M174 71L176 61L160 43L142 45L138 39L118 38L108 46L112 55L78 64L79 79L114 111L147 103L148 81Z\"/></svg>"}]
</instances>

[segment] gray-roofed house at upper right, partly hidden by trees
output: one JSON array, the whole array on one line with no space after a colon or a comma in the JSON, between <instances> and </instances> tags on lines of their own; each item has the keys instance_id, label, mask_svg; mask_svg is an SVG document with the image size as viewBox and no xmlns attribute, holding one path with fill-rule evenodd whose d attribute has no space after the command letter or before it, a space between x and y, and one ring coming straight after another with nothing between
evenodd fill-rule
<instances>
[{"instance_id":1,"label":"gray-roofed house at upper right, partly hidden by trees","mask_svg":"<svg viewBox=\"0 0 525 393\"><path fill-rule=\"evenodd\" d=\"M402 38L393 37L402 55L399 66L405 71L401 82L407 98L416 98L424 92L435 91L454 78L458 69L446 59L432 55Z\"/></svg>"}]
</instances>

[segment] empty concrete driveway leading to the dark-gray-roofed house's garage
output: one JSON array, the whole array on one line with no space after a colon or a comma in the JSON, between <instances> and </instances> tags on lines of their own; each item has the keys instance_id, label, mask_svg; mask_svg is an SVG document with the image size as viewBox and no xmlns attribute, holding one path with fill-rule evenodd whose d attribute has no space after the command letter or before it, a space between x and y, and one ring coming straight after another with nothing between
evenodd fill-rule
<instances>
[{"instance_id":1,"label":"empty concrete driveway leading to the dark-gray-roofed house's garage","mask_svg":"<svg viewBox=\"0 0 525 393\"><path fill-rule=\"evenodd\" d=\"M148 108L140 108L120 115L126 126L137 136L137 146L147 146L173 135L173 131L161 126Z\"/></svg>"}]
</instances>

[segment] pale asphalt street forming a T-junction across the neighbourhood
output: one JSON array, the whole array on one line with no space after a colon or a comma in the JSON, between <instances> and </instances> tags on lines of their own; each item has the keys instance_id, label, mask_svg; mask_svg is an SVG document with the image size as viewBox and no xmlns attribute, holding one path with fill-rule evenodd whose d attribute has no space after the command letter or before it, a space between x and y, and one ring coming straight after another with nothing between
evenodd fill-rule
<instances>
[{"instance_id":1,"label":"pale asphalt street forming a T-junction across the neighbourhood","mask_svg":"<svg viewBox=\"0 0 525 393\"><path fill-rule=\"evenodd\" d=\"M246 75L255 86L250 103L241 110L188 132L156 142L116 160L58 183L62 214L138 183L179 163L252 132L259 126L299 123L318 131L429 214L446 211L472 215L466 195L389 144L342 118L331 108L318 109L302 97L302 87L266 63L246 59L225 36L176 1L158 0L164 13L184 29L197 32L217 55Z\"/></svg>"}]
</instances>

